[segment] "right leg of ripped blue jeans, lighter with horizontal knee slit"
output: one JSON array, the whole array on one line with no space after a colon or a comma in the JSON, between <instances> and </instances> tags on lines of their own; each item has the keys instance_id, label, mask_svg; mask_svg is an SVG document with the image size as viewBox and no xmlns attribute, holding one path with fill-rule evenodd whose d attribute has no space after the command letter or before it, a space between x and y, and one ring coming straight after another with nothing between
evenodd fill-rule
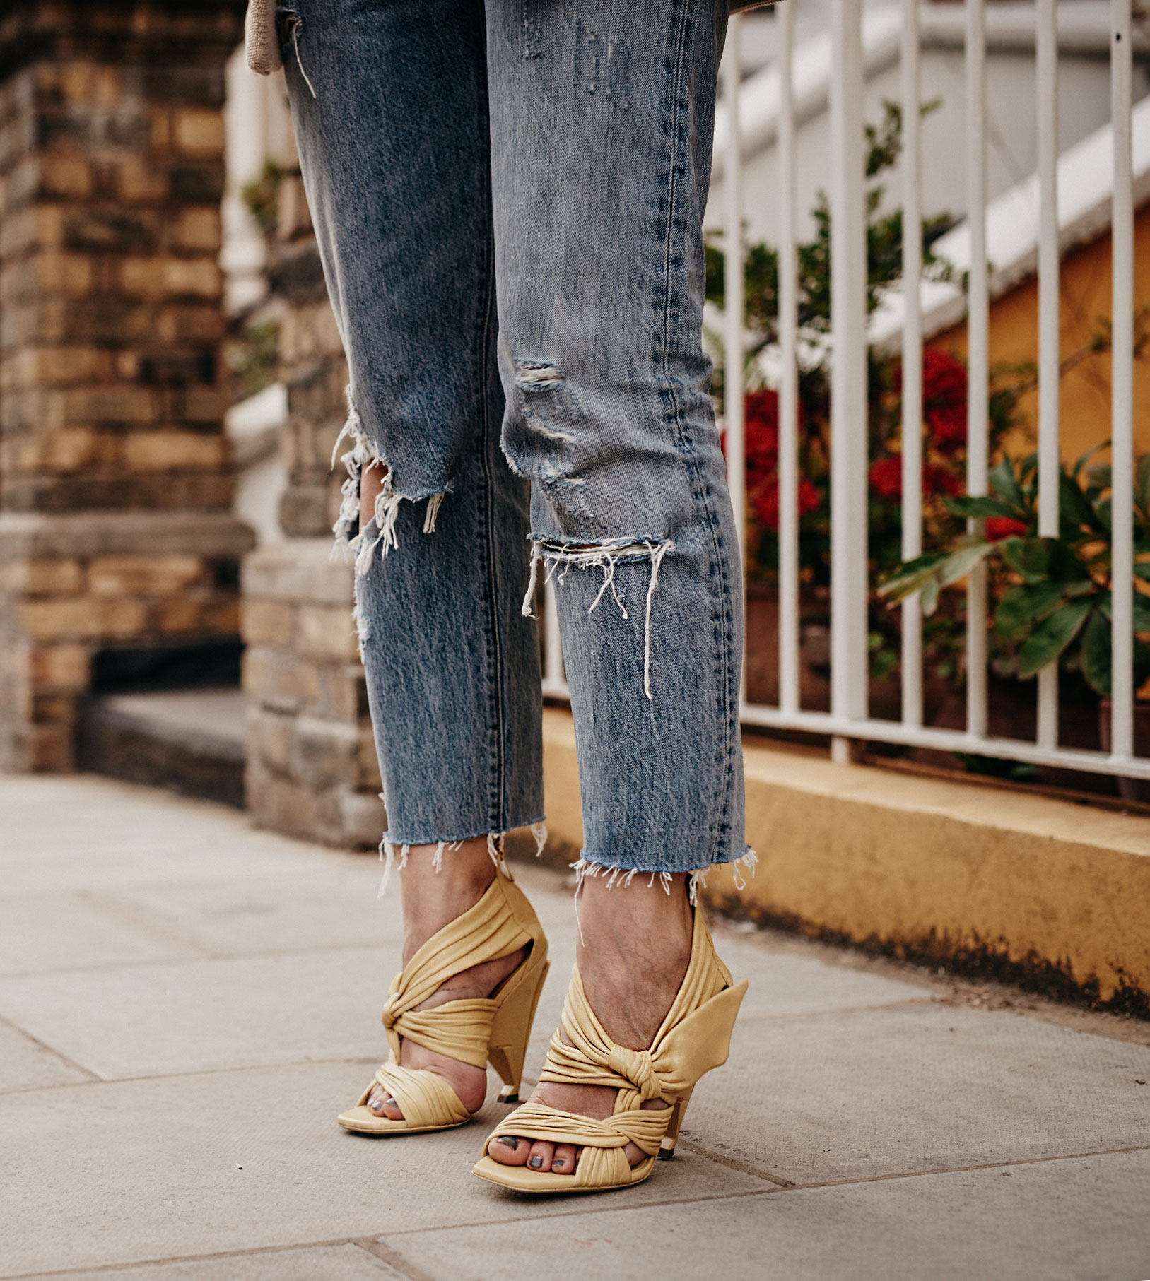
<instances>
[{"instance_id":1,"label":"right leg of ripped blue jeans, lighter with horizontal knee slit","mask_svg":"<svg viewBox=\"0 0 1150 1281\"><path fill-rule=\"evenodd\" d=\"M738 534L701 346L726 0L486 13L503 445L556 585L582 867L753 865Z\"/></svg>"}]
</instances>

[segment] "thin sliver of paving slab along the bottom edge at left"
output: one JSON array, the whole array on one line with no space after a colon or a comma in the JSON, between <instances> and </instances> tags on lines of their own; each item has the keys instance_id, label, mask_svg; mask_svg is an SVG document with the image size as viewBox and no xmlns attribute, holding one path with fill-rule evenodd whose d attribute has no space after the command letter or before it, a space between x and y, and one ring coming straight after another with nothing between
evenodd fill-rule
<instances>
[{"instance_id":1,"label":"thin sliver of paving slab along the bottom edge at left","mask_svg":"<svg viewBox=\"0 0 1150 1281\"><path fill-rule=\"evenodd\" d=\"M27 1281L59 1277L41 1272ZM99 1272L69 1272L68 1281L406 1281L390 1263L359 1245L317 1245L304 1250L222 1254L213 1259L144 1263Z\"/></svg>"}]
</instances>

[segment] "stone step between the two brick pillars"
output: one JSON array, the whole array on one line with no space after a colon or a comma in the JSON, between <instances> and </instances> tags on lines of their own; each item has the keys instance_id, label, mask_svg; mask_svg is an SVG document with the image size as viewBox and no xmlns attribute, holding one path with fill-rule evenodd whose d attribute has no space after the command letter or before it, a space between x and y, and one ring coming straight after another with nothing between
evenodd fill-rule
<instances>
[{"instance_id":1,"label":"stone step between the two brick pillars","mask_svg":"<svg viewBox=\"0 0 1150 1281\"><path fill-rule=\"evenodd\" d=\"M82 770L244 806L244 693L236 687L92 698L77 729Z\"/></svg>"}]
</instances>

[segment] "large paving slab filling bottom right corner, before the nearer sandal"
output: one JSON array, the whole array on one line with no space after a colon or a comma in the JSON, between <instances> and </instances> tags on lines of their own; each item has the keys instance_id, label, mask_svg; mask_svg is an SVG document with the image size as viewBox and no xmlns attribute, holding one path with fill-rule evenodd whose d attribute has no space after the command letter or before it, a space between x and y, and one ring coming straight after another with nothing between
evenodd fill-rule
<instances>
[{"instance_id":1,"label":"large paving slab filling bottom right corner, before the nearer sandal","mask_svg":"<svg viewBox=\"0 0 1150 1281\"><path fill-rule=\"evenodd\" d=\"M435 1281L1142 1281L1150 1152L392 1234ZM418 1269L418 1273L415 1272Z\"/></svg>"}]
</instances>

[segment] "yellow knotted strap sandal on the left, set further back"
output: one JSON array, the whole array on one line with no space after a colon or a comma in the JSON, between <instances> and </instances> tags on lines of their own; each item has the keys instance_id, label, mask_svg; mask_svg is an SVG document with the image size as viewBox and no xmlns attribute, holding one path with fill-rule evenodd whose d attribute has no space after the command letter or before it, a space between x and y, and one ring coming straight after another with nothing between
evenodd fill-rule
<instances>
[{"instance_id":1,"label":"yellow knotted strap sandal on the left, set further back","mask_svg":"<svg viewBox=\"0 0 1150 1281\"><path fill-rule=\"evenodd\" d=\"M528 948L527 956L490 997L415 1009L453 975L510 956L522 947ZM517 1102L535 1008L547 970L547 939L538 918L522 890L496 869L495 880L479 902L433 934L392 980L383 1007L391 1057L355 1107L338 1116L340 1125L356 1134L394 1135L450 1130L471 1120L444 1077L400 1066L404 1039L473 1067L486 1067L490 1062L504 1081L500 1099ZM367 1107L376 1082L396 1100L403 1120L378 1117Z\"/></svg>"}]
</instances>

